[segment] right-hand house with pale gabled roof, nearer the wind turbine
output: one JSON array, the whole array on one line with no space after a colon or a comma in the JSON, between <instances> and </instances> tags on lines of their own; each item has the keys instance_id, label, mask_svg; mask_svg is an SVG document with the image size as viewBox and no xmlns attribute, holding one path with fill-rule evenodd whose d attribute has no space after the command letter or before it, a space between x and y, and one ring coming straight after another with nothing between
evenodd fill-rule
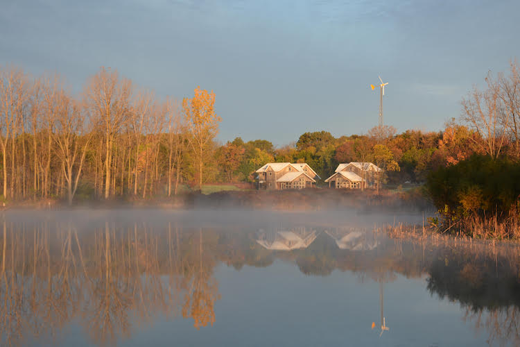
<instances>
[{"instance_id":1,"label":"right-hand house with pale gabled roof, nearer the wind turbine","mask_svg":"<svg viewBox=\"0 0 520 347\"><path fill-rule=\"evenodd\" d=\"M373 188L376 187L382 171L372 162L342 163L325 182L329 183L330 188Z\"/></svg>"}]
</instances>

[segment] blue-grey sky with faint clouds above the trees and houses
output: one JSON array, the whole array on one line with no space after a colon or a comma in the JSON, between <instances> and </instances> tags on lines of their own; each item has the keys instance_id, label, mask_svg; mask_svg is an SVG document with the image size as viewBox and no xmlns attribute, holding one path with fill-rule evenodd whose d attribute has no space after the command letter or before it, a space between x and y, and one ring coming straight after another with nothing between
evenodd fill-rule
<instances>
[{"instance_id":1,"label":"blue-grey sky with faint clouds above the trees and houses","mask_svg":"<svg viewBox=\"0 0 520 347\"><path fill-rule=\"evenodd\" d=\"M99 67L158 96L213 90L218 140L281 146L307 131L441 130L488 71L520 58L520 1L0 0L0 65Z\"/></svg>"}]
</instances>

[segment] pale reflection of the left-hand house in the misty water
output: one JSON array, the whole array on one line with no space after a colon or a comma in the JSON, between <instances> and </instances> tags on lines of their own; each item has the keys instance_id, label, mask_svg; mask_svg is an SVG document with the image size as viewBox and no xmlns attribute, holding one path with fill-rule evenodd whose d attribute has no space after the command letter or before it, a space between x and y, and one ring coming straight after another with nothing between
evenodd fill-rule
<instances>
[{"instance_id":1,"label":"pale reflection of the left-hand house in the misty water","mask_svg":"<svg viewBox=\"0 0 520 347\"><path fill-rule=\"evenodd\" d=\"M309 247L316 239L316 230L293 228L292 230L259 230L257 243L273 251L292 251Z\"/></svg>"}]
</instances>

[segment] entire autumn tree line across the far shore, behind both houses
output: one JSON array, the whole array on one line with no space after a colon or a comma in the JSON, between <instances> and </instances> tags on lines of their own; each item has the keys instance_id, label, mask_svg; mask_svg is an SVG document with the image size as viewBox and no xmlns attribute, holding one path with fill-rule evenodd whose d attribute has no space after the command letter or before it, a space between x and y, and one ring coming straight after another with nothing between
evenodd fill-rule
<instances>
[{"instance_id":1,"label":"entire autumn tree line across the far shore, behind both houses","mask_svg":"<svg viewBox=\"0 0 520 347\"><path fill-rule=\"evenodd\" d=\"M275 148L266 139L216 141L215 94L159 98L101 68L73 95L60 76L0 67L0 175L5 200L169 197L205 183L252 183L266 162L307 162L322 179L340 162L374 162L386 183L423 183L471 155L520 158L520 82L488 74L462 99L462 116L440 131L376 126L363 135L302 134Z\"/></svg>"}]
</instances>

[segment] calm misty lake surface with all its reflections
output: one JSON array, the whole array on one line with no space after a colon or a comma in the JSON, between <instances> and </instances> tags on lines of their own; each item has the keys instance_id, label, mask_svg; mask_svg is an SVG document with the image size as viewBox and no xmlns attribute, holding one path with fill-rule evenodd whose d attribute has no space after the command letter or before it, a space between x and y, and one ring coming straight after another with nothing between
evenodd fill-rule
<instances>
[{"instance_id":1,"label":"calm misty lake surface with all its reflections","mask_svg":"<svg viewBox=\"0 0 520 347\"><path fill-rule=\"evenodd\" d=\"M9 212L2 346L518 346L516 246L391 237L421 216Z\"/></svg>"}]
</instances>

